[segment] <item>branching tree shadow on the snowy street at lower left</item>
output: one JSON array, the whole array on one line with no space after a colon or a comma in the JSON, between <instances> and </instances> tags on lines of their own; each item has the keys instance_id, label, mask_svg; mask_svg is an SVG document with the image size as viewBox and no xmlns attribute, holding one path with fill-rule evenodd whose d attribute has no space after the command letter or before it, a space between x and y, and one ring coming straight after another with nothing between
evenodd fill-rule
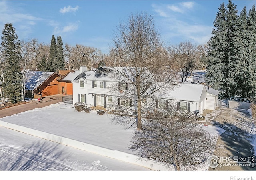
<instances>
[{"instance_id":1,"label":"branching tree shadow on the snowy street at lower left","mask_svg":"<svg viewBox=\"0 0 256 180\"><path fill-rule=\"evenodd\" d=\"M62 162L69 154L61 144L32 142L22 147L0 144L0 170L74 170ZM61 159L60 159L61 156Z\"/></svg>"}]
</instances>

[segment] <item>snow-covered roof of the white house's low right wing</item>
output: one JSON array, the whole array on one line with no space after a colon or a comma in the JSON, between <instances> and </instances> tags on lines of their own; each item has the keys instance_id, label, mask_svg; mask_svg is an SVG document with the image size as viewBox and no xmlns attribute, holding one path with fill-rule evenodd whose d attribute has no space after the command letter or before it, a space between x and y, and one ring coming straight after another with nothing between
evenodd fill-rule
<instances>
[{"instance_id":1,"label":"snow-covered roof of the white house's low right wing","mask_svg":"<svg viewBox=\"0 0 256 180\"><path fill-rule=\"evenodd\" d=\"M188 82L188 83L172 85L172 88L173 90L169 90L161 98L200 102L200 97L202 95L204 85L192 84L191 82Z\"/></svg>"}]
</instances>

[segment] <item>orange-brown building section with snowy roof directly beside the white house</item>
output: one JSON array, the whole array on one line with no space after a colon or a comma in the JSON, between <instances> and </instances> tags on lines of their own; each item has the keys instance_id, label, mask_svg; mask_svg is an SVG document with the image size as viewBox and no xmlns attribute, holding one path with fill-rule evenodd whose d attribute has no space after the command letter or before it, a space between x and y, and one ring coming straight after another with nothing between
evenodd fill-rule
<instances>
[{"instance_id":1,"label":"orange-brown building section with snowy roof directly beside the white house","mask_svg":"<svg viewBox=\"0 0 256 180\"><path fill-rule=\"evenodd\" d=\"M62 73L63 71L64 71L64 73ZM65 72L67 72L67 73L65 74ZM57 79L59 82L58 94L73 95L72 81L80 74L80 71L60 70L59 73L64 74L64 76Z\"/></svg>"}]
</instances>

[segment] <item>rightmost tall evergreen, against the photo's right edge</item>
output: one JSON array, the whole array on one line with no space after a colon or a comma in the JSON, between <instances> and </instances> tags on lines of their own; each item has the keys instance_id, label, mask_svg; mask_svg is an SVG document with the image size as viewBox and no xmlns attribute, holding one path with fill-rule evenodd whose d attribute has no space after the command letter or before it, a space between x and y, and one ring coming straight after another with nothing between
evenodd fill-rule
<instances>
[{"instance_id":1,"label":"rightmost tall evergreen, against the photo's right edge","mask_svg":"<svg viewBox=\"0 0 256 180\"><path fill-rule=\"evenodd\" d=\"M255 63L253 63L252 39L253 33L248 30L246 7L241 11L236 26L236 39L234 40L234 49L239 63L234 64L234 73L236 74L236 90L234 95L241 97L253 96L255 92Z\"/></svg>"}]
</instances>

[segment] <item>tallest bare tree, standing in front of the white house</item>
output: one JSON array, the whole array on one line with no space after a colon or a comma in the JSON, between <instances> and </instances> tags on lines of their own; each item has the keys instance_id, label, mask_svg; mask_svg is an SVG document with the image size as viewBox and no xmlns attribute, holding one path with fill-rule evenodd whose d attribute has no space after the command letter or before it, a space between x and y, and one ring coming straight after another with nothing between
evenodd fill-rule
<instances>
[{"instance_id":1,"label":"tallest bare tree, standing in front of the white house","mask_svg":"<svg viewBox=\"0 0 256 180\"><path fill-rule=\"evenodd\" d=\"M134 112L137 129L142 129L142 116L146 108L155 105L155 92L172 82L166 70L166 50L160 34L148 13L131 14L116 29L110 55L114 58L113 78L119 82L114 90L120 90L115 110ZM125 86L125 87L124 87ZM113 103L114 104L114 103ZM134 122L132 119L116 118L116 123Z\"/></svg>"}]
</instances>

